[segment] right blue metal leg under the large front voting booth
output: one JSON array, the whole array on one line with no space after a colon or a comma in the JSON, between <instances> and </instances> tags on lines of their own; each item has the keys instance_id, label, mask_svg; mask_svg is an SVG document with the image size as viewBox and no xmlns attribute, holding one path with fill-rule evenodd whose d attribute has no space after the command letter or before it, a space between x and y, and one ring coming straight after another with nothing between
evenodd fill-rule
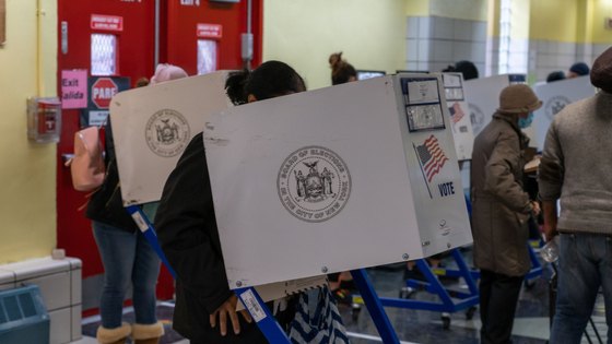
<instances>
[{"instance_id":1,"label":"right blue metal leg under the large front voting booth","mask_svg":"<svg viewBox=\"0 0 612 344\"><path fill-rule=\"evenodd\" d=\"M353 276L353 281L357 285L360 289L361 296L364 300L365 306L367 307L367 311L378 330L378 334L382 339L382 343L385 344L400 344L400 340L391 327L391 322L382 308L382 304L376 295L374 287L372 286L372 282L365 272L365 269L352 270L351 275ZM274 342L271 342L274 343Z\"/></svg>"}]
</instances>

